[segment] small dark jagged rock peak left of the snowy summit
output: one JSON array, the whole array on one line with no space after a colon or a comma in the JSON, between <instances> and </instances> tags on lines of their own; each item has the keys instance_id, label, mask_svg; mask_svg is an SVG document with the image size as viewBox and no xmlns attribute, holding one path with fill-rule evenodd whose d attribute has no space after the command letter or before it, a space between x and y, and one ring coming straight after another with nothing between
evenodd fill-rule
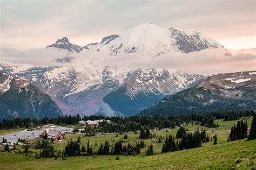
<instances>
[{"instance_id":1,"label":"small dark jagged rock peak left of the snowy summit","mask_svg":"<svg viewBox=\"0 0 256 170\"><path fill-rule=\"evenodd\" d=\"M63 37L62 39L58 39L55 44L49 45L46 48L49 47L56 47L56 48L62 48L62 49L68 49L70 52L75 51L77 53L83 51L83 49L88 49L87 47L81 47L76 44L72 44L69 42L69 39L66 37Z\"/></svg>"}]
</instances>

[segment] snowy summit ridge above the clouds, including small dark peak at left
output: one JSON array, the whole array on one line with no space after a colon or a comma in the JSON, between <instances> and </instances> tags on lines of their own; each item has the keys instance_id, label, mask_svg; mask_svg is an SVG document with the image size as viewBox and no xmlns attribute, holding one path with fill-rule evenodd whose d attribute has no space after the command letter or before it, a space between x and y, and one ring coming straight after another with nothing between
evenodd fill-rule
<instances>
[{"instance_id":1,"label":"snowy summit ridge above the clouds, including small dark peak at left","mask_svg":"<svg viewBox=\"0 0 256 170\"><path fill-rule=\"evenodd\" d=\"M190 53L207 48L223 48L217 41L194 29L174 27L167 29L154 24L139 24L121 34L107 36L99 44L77 46L64 37L47 47L64 48L73 52L89 51L109 55L138 53L152 56L170 52Z\"/></svg>"}]
</instances>

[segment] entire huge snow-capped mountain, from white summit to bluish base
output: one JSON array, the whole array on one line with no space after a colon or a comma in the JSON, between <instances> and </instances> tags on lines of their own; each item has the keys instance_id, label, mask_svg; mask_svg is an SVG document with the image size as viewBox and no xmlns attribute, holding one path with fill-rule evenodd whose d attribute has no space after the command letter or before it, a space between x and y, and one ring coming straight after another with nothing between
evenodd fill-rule
<instances>
[{"instance_id":1,"label":"entire huge snow-capped mountain, from white summit to bluish base","mask_svg":"<svg viewBox=\"0 0 256 170\"><path fill-rule=\"evenodd\" d=\"M59 39L45 50L66 50L68 54L54 59L51 66L5 62L0 63L0 68L36 84L64 114L133 115L165 95L194 86L206 77L163 68L113 66L110 59L136 54L138 58L151 60L159 55L208 48L223 46L196 30L140 24L86 46L73 45L65 37Z\"/></svg>"}]
</instances>

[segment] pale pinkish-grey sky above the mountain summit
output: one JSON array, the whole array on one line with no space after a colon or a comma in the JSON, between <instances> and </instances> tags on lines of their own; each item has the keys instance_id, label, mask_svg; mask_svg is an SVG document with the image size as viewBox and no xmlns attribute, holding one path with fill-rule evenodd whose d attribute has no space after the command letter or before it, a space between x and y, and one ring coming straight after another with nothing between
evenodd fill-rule
<instances>
[{"instance_id":1,"label":"pale pinkish-grey sky above the mountain summit","mask_svg":"<svg viewBox=\"0 0 256 170\"><path fill-rule=\"evenodd\" d=\"M256 47L254 0L0 0L0 8L1 48L42 48L62 37L84 46L142 23L193 28L228 49Z\"/></svg>"}]
</instances>

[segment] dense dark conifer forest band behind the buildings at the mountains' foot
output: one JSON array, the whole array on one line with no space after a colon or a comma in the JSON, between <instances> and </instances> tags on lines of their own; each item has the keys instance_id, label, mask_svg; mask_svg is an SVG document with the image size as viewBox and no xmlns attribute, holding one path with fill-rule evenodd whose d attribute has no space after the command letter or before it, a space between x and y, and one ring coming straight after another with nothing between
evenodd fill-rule
<instances>
[{"instance_id":1,"label":"dense dark conifer forest band behind the buildings at the mountains' foot","mask_svg":"<svg viewBox=\"0 0 256 170\"><path fill-rule=\"evenodd\" d=\"M207 127L217 127L218 124L214 124L214 119L224 119L230 121L233 119L239 119L241 117L253 116L253 110L245 111L227 111L227 112L211 112L210 114L190 114L190 115L173 115L173 116L130 116L130 117L119 117L119 116L103 116L103 115L91 115L84 116L81 118L77 116L59 116L56 118L43 118L43 119L31 119L31 118L15 118L15 119L3 119L0 123L0 129L15 129L15 128L37 128L46 124L58 124L68 125L77 124L78 121L83 119L95 120L95 119L110 119L113 124L103 122L100 123L99 131L102 132L130 132L139 131L144 126L149 129L154 128L174 128L180 126L183 123L196 121L201 125Z\"/></svg>"}]
</instances>

